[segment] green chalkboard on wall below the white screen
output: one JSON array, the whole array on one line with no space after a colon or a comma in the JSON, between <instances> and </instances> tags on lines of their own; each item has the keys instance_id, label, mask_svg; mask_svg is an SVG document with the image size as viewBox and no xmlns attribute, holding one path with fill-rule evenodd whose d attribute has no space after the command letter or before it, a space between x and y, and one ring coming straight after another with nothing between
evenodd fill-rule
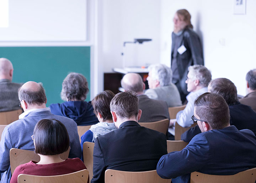
<instances>
[{"instance_id":1,"label":"green chalkboard on wall below the white screen","mask_svg":"<svg viewBox=\"0 0 256 183\"><path fill-rule=\"evenodd\" d=\"M90 88L90 47L0 47L0 57L12 62L12 82L42 82L46 90L47 106L62 103L62 82L70 72L83 74ZM90 92L86 101L90 100Z\"/></svg>"}]
</instances>

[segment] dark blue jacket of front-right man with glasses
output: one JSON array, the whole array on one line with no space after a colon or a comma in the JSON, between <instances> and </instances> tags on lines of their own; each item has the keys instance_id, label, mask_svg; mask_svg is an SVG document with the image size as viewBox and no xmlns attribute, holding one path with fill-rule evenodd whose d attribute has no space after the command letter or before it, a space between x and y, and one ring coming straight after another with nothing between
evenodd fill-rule
<instances>
[{"instance_id":1,"label":"dark blue jacket of front-right man with glasses","mask_svg":"<svg viewBox=\"0 0 256 183\"><path fill-rule=\"evenodd\" d=\"M194 171L233 175L254 168L255 154L255 134L229 126L196 135L183 150L162 156L156 170L162 178L173 178L173 183L187 183Z\"/></svg>"}]
</instances>

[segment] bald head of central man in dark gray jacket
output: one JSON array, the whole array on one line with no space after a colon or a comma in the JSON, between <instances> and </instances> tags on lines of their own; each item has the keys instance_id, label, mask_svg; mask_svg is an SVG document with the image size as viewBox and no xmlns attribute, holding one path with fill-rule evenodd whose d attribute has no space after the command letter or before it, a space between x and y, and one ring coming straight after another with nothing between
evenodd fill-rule
<instances>
[{"instance_id":1,"label":"bald head of central man in dark gray jacket","mask_svg":"<svg viewBox=\"0 0 256 183\"><path fill-rule=\"evenodd\" d=\"M142 77L137 73L128 73L124 75L121 81L121 86L126 91L135 91L138 94L143 93L143 89L145 89Z\"/></svg>"}]
</instances>

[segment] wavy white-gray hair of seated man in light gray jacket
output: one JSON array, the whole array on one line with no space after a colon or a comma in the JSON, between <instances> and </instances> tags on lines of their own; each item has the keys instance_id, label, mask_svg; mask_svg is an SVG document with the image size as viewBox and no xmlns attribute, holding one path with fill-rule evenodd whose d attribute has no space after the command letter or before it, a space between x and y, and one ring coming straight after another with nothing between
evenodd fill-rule
<instances>
[{"instance_id":1,"label":"wavy white-gray hair of seated man in light gray jacket","mask_svg":"<svg viewBox=\"0 0 256 183\"><path fill-rule=\"evenodd\" d=\"M161 87L168 86L172 83L172 70L163 64L154 64L148 67L151 77L159 81Z\"/></svg>"}]
</instances>

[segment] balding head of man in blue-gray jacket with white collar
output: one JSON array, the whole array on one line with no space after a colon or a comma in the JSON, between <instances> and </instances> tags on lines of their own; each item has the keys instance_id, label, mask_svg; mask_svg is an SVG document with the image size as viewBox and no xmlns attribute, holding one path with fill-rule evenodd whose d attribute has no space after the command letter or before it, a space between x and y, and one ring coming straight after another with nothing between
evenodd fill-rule
<instances>
[{"instance_id":1,"label":"balding head of man in blue-gray jacket with white collar","mask_svg":"<svg viewBox=\"0 0 256 183\"><path fill-rule=\"evenodd\" d=\"M33 81L26 82L18 89L18 97L20 101L24 100L28 105L33 106L41 106L47 101L42 83Z\"/></svg>"}]
</instances>

